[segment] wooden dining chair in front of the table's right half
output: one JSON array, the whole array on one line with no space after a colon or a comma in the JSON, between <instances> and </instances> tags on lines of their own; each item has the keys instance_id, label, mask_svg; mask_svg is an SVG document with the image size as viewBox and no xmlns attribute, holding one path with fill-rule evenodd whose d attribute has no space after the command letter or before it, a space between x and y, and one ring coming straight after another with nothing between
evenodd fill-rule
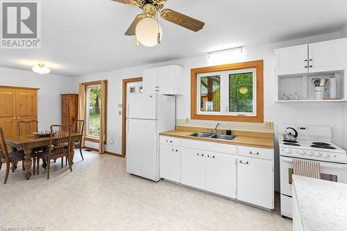
<instances>
[{"instance_id":1,"label":"wooden dining chair in front of the table's right half","mask_svg":"<svg viewBox=\"0 0 347 231\"><path fill-rule=\"evenodd\" d=\"M56 135L54 135L56 133ZM71 168L71 125L52 125L51 138L49 141L49 148L47 151L37 153L37 174L39 173L40 159L46 161L48 164L47 180L49 179L49 171L51 168L51 160L66 157Z\"/></svg>"}]
</instances>

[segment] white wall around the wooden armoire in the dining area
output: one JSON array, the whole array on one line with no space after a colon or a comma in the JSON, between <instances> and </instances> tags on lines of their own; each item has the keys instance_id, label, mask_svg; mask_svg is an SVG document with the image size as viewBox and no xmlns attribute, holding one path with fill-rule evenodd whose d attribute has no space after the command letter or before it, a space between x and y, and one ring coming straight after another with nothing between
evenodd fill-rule
<instances>
[{"instance_id":1,"label":"white wall around the wooden armoire in the dining area","mask_svg":"<svg viewBox=\"0 0 347 231\"><path fill-rule=\"evenodd\" d=\"M53 123L61 123L60 94L73 93L72 78L53 74L40 75L0 67L0 85L40 88L37 94L37 120L40 130L49 130Z\"/></svg>"}]
</instances>

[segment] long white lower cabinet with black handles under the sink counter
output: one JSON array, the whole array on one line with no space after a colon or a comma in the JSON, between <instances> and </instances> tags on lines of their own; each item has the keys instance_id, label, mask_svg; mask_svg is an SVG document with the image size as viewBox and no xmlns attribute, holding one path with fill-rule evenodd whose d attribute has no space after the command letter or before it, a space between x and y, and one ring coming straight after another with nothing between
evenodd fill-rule
<instances>
[{"instance_id":1,"label":"long white lower cabinet with black handles under the sink counter","mask_svg":"<svg viewBox=\"0 0 347 231\"><path fill-rule=\"evenodd\" d=\"M160 138L160 178L273 209L273 149Z\"/></svg>"}]
</instances>

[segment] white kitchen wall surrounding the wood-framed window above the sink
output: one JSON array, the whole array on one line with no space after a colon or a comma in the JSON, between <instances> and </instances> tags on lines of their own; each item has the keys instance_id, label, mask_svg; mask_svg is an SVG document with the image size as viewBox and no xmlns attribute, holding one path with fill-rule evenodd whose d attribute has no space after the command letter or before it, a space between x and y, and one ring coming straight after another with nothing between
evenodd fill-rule
<instances>
[{"instance_id":1,"label":"white kitchen wall surrounding the wood-framed window above the sink","mask_svg":"<svg viewBox=\"0 0 347 231\"><path fill-rule=\"evenodd\" d=\"M108 139L115 139L115 144L108 144L105 149L113 153L121 153L121 116L118 114L117 104L121 103L121 80L124 78L134 78L142 76L142 70L149 67L176 64L184 67L184 94L178 96L176 103L176 119L190 117L190 69L196 67L206 67L223 63L242 62L247 60L264 60L264 120L276 123L303 123L310 125L332 126L333 141L340 145L342 143L342 105L341 103L275 103L274 102L274 55L273 50L296 44L319 42L340 37L340 33L329 33L314 37L305 37L298 40L266 44L264 46L245 47L244 52L239 57L230 60L220 60L209 62L207 55L202 55L183 60L171 62L161 62L142 67L120 69L97 74L80 76L77 83L91 80L109 80L108 92ZM181 121L180 121L181 122ZM196 122L196 121L194 121ZM223 122L222 122L223 124ZM234 123L235 127L239 123ZM237 126L239 128L239 126ZM257 127L257 126L255 126ZM109 140L108 140L109 142ZM276 152L278 153L278 152ZM276 189L278 189L278 154L276 154Z\"/></svg>"}]
</instances>

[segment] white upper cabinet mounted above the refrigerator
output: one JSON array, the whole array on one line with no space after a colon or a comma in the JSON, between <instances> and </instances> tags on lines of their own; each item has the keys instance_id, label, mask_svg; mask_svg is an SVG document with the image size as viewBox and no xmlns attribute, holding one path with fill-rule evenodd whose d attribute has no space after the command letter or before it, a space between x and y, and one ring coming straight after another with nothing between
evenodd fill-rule
<instances>
[{"instance_id":1,"label":"white upper cabinet mounted above the refrigerator","mask_svg":"<svg viewBox=\"0 0 347 231\"><path fill-rule=\"evenodd\" d=\"M145 94L183 94L183 68L177 65L144 70Z\"/></svg>"}]
</instances>

